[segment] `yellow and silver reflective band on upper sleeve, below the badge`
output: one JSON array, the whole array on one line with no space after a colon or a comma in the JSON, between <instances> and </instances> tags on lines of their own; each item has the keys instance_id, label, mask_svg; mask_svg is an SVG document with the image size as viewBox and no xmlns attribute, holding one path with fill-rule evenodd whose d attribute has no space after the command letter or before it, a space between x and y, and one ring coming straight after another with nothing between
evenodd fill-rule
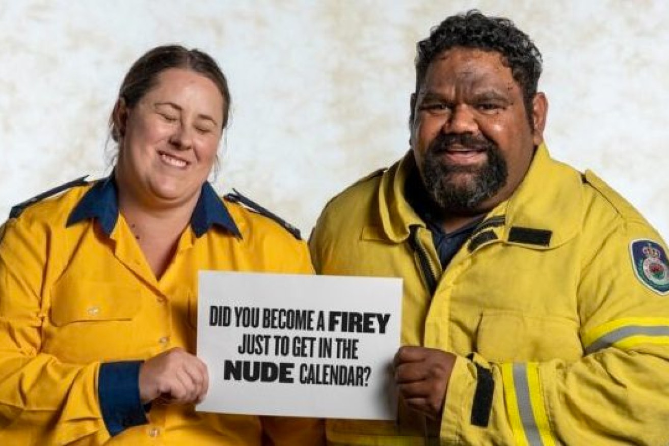
<instances>
[{"instance_id":1,"label":"yellow and silver reflective band on upper sleeve, below the badge","mask_svg":"<svg viewBox=\"0 0 669 446\"><path fill-rule=\"evenodd\" d=\"M609 346L631 348L640 344L669 345L669 319L617 319L602 324L583 335L586 354Z\"/></svg>"}]
</instances>

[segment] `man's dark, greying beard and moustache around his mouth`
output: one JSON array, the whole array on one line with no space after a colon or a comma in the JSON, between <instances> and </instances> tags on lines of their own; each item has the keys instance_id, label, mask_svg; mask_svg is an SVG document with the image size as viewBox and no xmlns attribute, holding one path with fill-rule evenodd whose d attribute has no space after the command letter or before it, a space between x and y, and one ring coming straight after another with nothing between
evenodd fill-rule
<instances>
[{"instance_id":1,"label":"man's dark, greying beard and moustache around his mouth","mask_svg":"<svg viewBox=\"0 0 669 446\"><path fill-rule=\"evenodd\" d=\"M484 164L460 165L445 162L442 155L454 145L486 152ZM429 144L421 165L423 185L429 197L442 212L475 213L481 203L494 196L504 185L508 174L506 160L497 144L471 134L440 134ZM456 177L468 175L460 181Z\"/></svg>"}]
</instances>

